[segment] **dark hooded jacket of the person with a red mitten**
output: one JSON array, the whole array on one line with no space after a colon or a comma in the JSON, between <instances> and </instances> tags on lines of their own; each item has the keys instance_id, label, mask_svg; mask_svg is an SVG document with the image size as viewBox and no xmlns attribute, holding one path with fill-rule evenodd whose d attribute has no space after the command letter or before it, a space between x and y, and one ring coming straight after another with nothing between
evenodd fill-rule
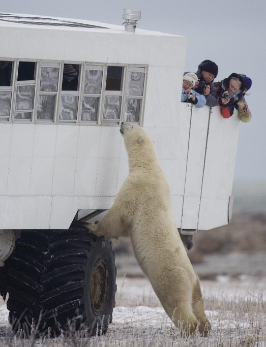
<instances>
[{"instance_id":1,"label":"dark hooded jacket of the person with a red mitten","mask_svg":"<svg viewBox=\"0 0 266 347\"><path fill-rule=\"evenodd\" d=\"M222 104L223 93L229 89L229 82L232 77L237 77L241 82L241 86L240 86L239 92L237 94L234 94L234 97L232 97L226 105L223 105ZM237 110L239 109L238 102L240 100L241 95L243 95L243 91L245 89L243 78L239 74L232 73L230 76L223 79L222 81L215 82L214 86L216 87L216 92L218 96L218 105L221 106L221 113L223 118L231 117L231 115L233 114L234 108L236 108Z\"/></svg>"}]
</instances>

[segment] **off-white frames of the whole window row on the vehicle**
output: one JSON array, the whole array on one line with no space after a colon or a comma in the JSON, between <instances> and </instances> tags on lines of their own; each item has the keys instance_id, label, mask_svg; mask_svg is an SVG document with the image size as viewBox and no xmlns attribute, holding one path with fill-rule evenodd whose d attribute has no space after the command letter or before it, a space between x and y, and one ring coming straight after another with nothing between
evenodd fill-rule
<instances>
[{"instance_id":1,"label":"off-white frames of the whole window row on the vehicle","mask_svg":"<svg viewBox=\"0 0 266 347\"><path fill-rule=\"evenodd\" d=\"M11 91L11 104L10 104L10 114L9 116L0 116L0 122L15 122L15 123L38 123L38 124L75 124L75 125L86 125L86 126L117 126L121 125L124 118L126 100L127 99L140 99L140 110L139 110L139 120L138 122L134 122L134 124L143 125L143 115L144 115L144 107L145 107L145 98L146 98L146 85L147 85L147 74L149 66L145 64L114 64L114 63L103 63L103 62L91 62L91 61L70 61L70 60L42 60L42 59L11 59L11 58L1 58L0 60L7 60L13 62L12 68L12 77L11 77L11 86L2 86L0 87L0 91ZM18 76L18 65L20 61L28 61L35 62L35 80L33 81L17 81ZM62 90L62 81L63 81L63 70L64 64L75 64L80 65L79 70L79 81L78 81L78 90ZM107 79L107 68L108 66L117 66L123 68L123 81L122 81L122 90L105 90L106 79ZM40 83L41 83L41 69L44 67L58 67L58 84L57 91L40 91ZM100 68L99 68L100 67ZM101 94L88 94L84 93L84 83L85 83L85 73L86 70L101 70L102 71L102 86L101 86ZM144 73L144 83L143 83L143 94L142 96L130 96L126 94L126 86L127 86L127 78L128 72L139 71ZM20 85L33 85L35 87L34 92L34 105L32 110L15 110L16 103L16 94L17 94L17 86ZM55 96L55 104L54 104L54 114L53 119L37 119L38 114L38 103L39 96L42 95L54 95ZM77 105L77 118L70 119L59 119L60 117L60 107L61 107L61 97L64 95L73 95L78 97L78 105ZM121 96L121 110L120 110L120 118L119 119L103 119L103 111L104 111L104 101L105 96ZM81 120L81 112L82 112L82 102L83 97L97 97L99 98L98 103L98 114L97 120ZM15 118L16 113L20 112L32 112L31 119L21 119Z\"/></svg>"}]
</instances>

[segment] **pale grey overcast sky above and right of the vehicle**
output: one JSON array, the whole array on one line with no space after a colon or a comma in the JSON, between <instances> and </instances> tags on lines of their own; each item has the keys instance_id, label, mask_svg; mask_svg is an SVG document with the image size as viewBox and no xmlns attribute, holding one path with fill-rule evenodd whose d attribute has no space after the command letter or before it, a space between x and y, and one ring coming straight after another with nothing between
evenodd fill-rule
<instances>
[{"instance_id":1,"label":"pale grey overcast sky above and right of the vehicle","mask_svg":"<svg viewBox=\"0 0 266 347\"><path fill-rule=\"evenodd\" d=\"M141 10L141 29L187 37L185 71L195 72L202 60L211 59L219 67L217 81L232 72L251 77L246 100L252 119L241 123L234 178L266 179L265 0L0 0L1 12L112 24L123 23L126 8Z\"/></svg>"}]
</instances>

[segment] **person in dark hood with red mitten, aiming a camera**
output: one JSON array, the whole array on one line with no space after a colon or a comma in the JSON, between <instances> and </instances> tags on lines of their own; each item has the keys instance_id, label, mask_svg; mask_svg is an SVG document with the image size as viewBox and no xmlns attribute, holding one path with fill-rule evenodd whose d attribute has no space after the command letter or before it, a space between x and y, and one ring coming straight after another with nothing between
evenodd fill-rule
<instances>
[{"instance_id":1,"label":"person in dark hood with red mitten, aiming a camera","mask_svg":"<svg viewBox=\"0 0 266 347\"><path fill-rule=\"evenodd\" d=\"M214 83L218 96L218 105L221 106L223 118L229 118L233 114L234 107L238 105L240 94L245 90L243 77L232 73L220 82Z\"/></svg>"}]
</instances>

